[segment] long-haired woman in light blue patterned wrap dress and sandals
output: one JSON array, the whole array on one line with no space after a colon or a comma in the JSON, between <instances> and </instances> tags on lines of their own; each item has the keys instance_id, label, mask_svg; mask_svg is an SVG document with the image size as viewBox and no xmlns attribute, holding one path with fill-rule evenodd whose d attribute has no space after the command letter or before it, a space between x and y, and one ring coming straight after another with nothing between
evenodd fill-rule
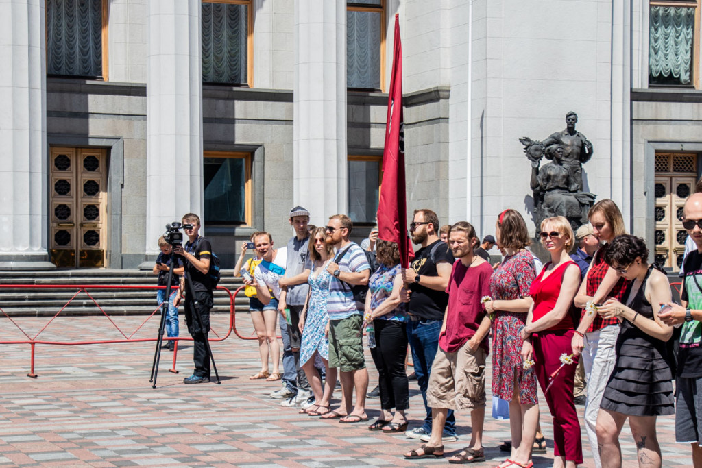
<instances>
[{"instance_id":1,"label":"long-haired woman in light blue patterned wrap dress and sandals","mask_svg":"<svg viewBox=\"0 0 702 468\"><path fill-rule=\"evenodd\" d=\"M336 385L336 368L329 368L329 340L327 332L329 330L329 315L326 313L326 298L329 296L329 279L331 274L326 271L326 265L333 258L333 247L324 242L326 233L324 227L317 227L310 236L310 258L314 262L310 278L310 295L307 296L307 303L300 314L300 332L302 341L300 343L300 366L305 370L307 381L312 387L314 394L314 405L300 413L310 416L319 416L329 413L329 400ZM326 368L326 379L324 389L319 371L315 367L315 361L324 363Z\"/></svg>"}]
</instances>

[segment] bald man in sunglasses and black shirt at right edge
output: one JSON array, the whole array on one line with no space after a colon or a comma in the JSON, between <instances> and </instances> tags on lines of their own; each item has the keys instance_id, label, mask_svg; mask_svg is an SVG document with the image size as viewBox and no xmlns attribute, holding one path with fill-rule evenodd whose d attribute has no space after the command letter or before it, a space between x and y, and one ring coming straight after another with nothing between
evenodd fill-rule
<instances>
[{"instance_id":1,"label":"bald man in sunglasses and black shirt at right edge","mask_svg":"<svg viewBox=\"0 0 702 468\"><path fill-rule=\"evenodd\" d=\"M692 464L702 467L702 193L689 196L682 216L682 225L697 250L684 260L682 305L668 302L658 317L666 325L682 324L675 380L675 441L690 443Z\"/></svg>"}]
</instances>

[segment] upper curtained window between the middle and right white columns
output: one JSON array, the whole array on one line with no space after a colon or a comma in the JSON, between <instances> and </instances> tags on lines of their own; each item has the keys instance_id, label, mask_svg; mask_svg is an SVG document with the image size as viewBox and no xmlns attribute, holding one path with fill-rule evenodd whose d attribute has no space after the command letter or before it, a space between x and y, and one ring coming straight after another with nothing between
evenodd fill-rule
<instances>
[{"instance_id":1,"label":"upper curtained window between the middle and right white columns","mask_svg":"<svg viewBox=\"0 0 702 468\"><path fill-rule=\"evenodd\" d=\"M249 84L251 1L202 2L202 81Z\"/></svg>"}]
</instances>

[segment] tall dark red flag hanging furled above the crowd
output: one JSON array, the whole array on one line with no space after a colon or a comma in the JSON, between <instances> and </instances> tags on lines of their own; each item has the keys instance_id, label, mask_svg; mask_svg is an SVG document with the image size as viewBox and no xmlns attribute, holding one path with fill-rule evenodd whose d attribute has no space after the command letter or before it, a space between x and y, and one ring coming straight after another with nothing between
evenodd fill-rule
<instances>
[{"instance_id":1,"label":"tall dark red flag hanging furled above the crowd","mask_svg":"<svg viewBox=\"0 0 702 468\"><path fill-rule=\"evenodd\" d=\"M388 96L388 121L385 123L383 182L378 203L378 239L397 242L400 264L409 267L414 257L407 237L407 202L404 180L404 119L402 116L402 43L399 15L395 15L395 47Z\"/></svg>"}]
</instances>

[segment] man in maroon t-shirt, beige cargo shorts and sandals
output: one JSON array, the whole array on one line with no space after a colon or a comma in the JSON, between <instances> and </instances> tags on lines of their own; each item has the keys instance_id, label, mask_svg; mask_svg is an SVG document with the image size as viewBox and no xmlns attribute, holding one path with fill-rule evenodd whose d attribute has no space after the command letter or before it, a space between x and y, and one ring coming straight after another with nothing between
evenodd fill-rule
<instances>
[{"instance_id":1,"label":"man in maroon t-shirt, beige cargo shorts and sandals","mask_svg":"<svg viewBox=\"0 0 702 468\"><path fill-rule=\"evenodd\" d=\"M446 293L449 305L439 335L439 349L432 364L427 404L432 408L432 435L429 441L406 453L409 459L444 456L442 428L449 409L470 409L470 445L451 457L451 462L485 460L482 446L485 417L486 340L490 319L482 297L490 295L492 267L473 253L478 242L475 229L465 221L451 226L449 245L456 262Z\"/></svg>"}]
</instances>

